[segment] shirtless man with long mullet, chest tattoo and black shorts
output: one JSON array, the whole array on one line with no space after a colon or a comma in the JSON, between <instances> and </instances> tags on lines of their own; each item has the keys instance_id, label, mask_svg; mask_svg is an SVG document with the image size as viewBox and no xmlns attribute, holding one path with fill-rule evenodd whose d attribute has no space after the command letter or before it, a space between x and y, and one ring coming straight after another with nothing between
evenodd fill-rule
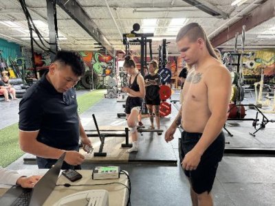
<instances>
[{"instance_id":1,"label":"shirtless man with long mullet, chest tattoo and black shorts","mask_svg":"<svg viewBox=\"0 0 275 206\"><path fill-rule=\"evenodd\" d=\"M221 130L230 101L230 73L217 60L199 24L182 27L176 43L181 57L194 68L188 72L184 103L166 130L165 140L171 141L181 124L181 165L190 181L192 205L213 205L210 192L223 157L225 139Z\"/></svg>"}]
</instances>

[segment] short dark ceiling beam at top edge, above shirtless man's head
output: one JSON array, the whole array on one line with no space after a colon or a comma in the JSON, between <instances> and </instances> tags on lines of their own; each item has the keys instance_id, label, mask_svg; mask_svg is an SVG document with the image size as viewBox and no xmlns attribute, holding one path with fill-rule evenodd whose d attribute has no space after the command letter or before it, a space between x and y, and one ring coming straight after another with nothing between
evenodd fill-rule
<instances>
[{"instance_id":1,"label":"short dark ceiling beam at top edge, above shirtless man's head","mask_svg":"<svg viewBox=\"0 0 275 206\"><path fill-rule=\"evenodd\" d=\"M225 12L217 8L217 6L212 5L208 1L205 1L205 0L183 0L183 1L185 1L186 3L189 3L190 5L195 6L196 8L198 8L203 12L206 12L207 14L210 14L211 16L215 16L217 18L223 18L223 19L229 18L229 14L226 14Z\"/></svg>"}]
</instances>

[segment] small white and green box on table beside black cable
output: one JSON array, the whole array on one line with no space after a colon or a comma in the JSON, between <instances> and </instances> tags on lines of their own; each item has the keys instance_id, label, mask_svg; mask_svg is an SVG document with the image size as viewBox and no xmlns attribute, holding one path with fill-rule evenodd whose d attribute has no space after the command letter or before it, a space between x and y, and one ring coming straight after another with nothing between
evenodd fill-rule
<instances>
[{"instance_id":1,"label":"small white and green box on table beside black cable","mask_svg":"<svg viewBox=\"0 0 275 206\"><path fill-rule=\"evenodd\" d=\"M120 167L118 166L98 166L94 168L92 179L119 179L120 178Z\"/></svg>"}]
</instances>

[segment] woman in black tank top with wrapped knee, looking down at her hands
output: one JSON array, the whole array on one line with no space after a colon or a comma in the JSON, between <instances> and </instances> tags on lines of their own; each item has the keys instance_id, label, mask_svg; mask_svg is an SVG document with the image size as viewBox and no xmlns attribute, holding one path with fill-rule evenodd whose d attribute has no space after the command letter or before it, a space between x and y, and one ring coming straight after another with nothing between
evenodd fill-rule
<instances>
[{"instance_id":1,"label":"woman in black tank top with wrapped knee, looking down at her hands","mask_svg":"<svg viewBox=\"0 0 275 206\"><path fill-rule=\"evenodd\" d=\"M133 147L126 152L137 152L137 116L142 107L142 98L145 96L144 78L135 69L135 62L129 56L125 57L123 69L129 74L129 87L122 87L122 91L128 93L125 104L127 124L131 128Z\"/></svg>"}]
</instances>

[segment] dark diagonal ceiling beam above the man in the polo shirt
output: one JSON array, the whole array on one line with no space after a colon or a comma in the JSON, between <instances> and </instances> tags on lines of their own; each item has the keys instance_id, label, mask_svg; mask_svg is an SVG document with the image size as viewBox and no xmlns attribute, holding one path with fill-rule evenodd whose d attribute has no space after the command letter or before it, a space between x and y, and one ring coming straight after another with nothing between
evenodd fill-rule
<instances>
[{"instance_id":1,"label":"dark diagonal ceiling beam above the man in the polo shirt","mask_svg":"<svg viewBox=\"0 0 275 206\"><path fill-rule=\"evenodd\" d=\"M76 0L57 0L56 3L113 56L113 47Z\"/></svg>"}]
</instances>

